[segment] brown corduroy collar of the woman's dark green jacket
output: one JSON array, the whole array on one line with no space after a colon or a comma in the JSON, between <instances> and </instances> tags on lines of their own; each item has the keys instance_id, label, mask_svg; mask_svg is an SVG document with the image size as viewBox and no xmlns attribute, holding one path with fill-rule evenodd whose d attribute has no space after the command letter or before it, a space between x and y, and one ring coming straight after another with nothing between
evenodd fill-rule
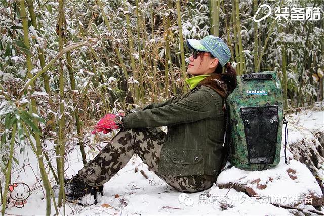
<instances>
[{"instance_id":1,"label":"brown corduroy collar of the woman's dark green jacket","mask_svg":"<svg viewBox=\"0 0 324 216\"><path fill-rule=\"evenodd\" d=\"M209 75L201 80L197 86L206 85L215 90L222 98L226 99L228 96L227 85L222 81L222 74L210 73Z\"/></svg>"}]
</instances>

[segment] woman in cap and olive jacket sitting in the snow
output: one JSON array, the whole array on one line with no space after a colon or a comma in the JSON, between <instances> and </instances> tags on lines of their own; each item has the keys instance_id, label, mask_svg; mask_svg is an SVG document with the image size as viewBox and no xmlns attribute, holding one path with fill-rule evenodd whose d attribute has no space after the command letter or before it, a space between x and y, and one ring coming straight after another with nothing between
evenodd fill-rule
<instances>
[{"instance_id":1,"label":"woman in cap and olive jacket sitting in the snow","mask_svg":"<svg viewBox=\"0 0 324 216\"><path fill-rule=\"evenodd\" d=\"M194 50L187 69L193 75L186 79L190 90L118 116L119 120L115 115L100 120L97 132L120 131L77 175L64 180L67 197L78 199L92 189L102 190L134 153L181 192L199 192L213 185L222 163L224 103L236 87L236 72L228 62L230 50L219 37L189 39L187 45ZM112 120L112 125L107 126L106 120ZM159 126L168 126L167 134Z\"/></svg>"}]
</instances>

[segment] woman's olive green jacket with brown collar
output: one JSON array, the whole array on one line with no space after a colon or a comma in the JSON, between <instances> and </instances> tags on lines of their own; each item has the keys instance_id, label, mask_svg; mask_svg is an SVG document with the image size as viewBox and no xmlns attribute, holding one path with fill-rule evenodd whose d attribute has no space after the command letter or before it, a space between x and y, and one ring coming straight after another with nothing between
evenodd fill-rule
<instances>
[{"instance_id":1,"label":"woman's olive green jacket with brown collar","mask_svg":"<svg viewBox=\"0 0 324 216\"><path fill-rule=\"evenodd\" d=\"M226 85L219 80L220 75L212 73L186 94L149 104L121 120L125 128L168 126L159 174L218 174L225 132L222 108L227 97Z\"/></svg>"}]
</instances>

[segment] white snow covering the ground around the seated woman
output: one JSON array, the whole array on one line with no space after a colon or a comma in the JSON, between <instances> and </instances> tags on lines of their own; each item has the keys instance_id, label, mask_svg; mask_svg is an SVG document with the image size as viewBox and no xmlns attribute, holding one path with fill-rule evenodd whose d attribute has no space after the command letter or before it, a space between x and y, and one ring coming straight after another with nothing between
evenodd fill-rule
<instances>
[{"instance_id":1,"label":"white snow covering the ground around the seated woman","mask_svg":"<svg viewBox=\"0 0 324 216\"><path fill-rule=\"evenodd\" d=\"M311 138L310 130L324 129L324 111L309 111L298 115L290 114L286 118L289 122L288 143L296 142L304 137ZM284 137L282 138L284 140ZM50 143L48 145L48 148L51 148ZM101 147L103 145L101 144ZM88 147L86 151L88 152L88 159L93 158L98 152L97 149L89 149ZM285 165L282 164L283 153L281 155L279 166ZM289 152L288 156L291 156ZM54 159L52 163L55 166ZM24 166L25 168L15 169L12 183L26 183L31 188L31 194L24 207L9 207L6 209L6 213L11 215L45 215L46 200L43 199L44 189L38 182L41 178L37 159L29 147L27 151L19 155L19 164L18 167ZM71 151L66 162L66 175L69 177L75 175L82 166L81 156L78 147L76 147ZM134 172L135 167L138 167L137 173ZM140 170L144 170L149 179L145 179ZM51 175L49 174L49 176ZM54 182L52 184L54 185ZM219 202L216 203L215 197L208 196L209 192L211 195L226 195L223 198L230 198L231 206L227 208ZM105 183L103 196L98 196L98 204L80 206L66 202L65 213L74 215L291 215L287 209L266 202L261 203L234 189L229 191L213 186L203 192L182 194L180 201L179 195L181 195L180 192L168 186L154 172L149 171L147 165L134 155L117 175ZM93 203L93 197L86 196L83 203ZM102 207L102 205L106 207ZM55 210L52 205L52 214L54 213ZM60 208L60 214L63 214L63 208Z\"/></svg>"}]
</instances>

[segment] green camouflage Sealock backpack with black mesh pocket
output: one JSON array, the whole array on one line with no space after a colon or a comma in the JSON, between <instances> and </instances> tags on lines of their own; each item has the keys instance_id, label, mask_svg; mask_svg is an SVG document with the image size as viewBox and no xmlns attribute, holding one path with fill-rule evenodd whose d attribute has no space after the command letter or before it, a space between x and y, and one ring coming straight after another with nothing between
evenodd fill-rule
<instances>
[{"instance_id":1,"label":"green camouflage Sealock backpack with black mesh pocket","mask_svg":"<svg viewBox=\"0 0 324 216\"><path fill-rule=\"evenodd\" d=\"M283 109L275 72L237 76L237 87L226 100L225 147L231 165L263 170L279 163Z\"/></svg>"}]
</instances>

